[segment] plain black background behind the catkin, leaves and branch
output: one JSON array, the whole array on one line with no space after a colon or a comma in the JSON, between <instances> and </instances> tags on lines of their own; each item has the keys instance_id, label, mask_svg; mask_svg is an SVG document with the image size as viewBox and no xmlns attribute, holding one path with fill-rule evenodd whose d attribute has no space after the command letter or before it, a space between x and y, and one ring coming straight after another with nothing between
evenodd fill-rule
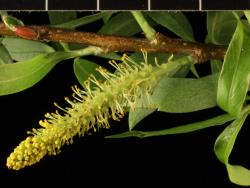
<instances>
[{"instance_id":1,"label":"plain black background behind the catkin, leaves and branch","mask_svg":"<svg viewBox=\"0 0 250 188\"><path fill-rule=\"evenodd\" d=\"M14 13L13 13L14 14ZM196 40L206 35L205 13L186 12L194 28ZM47 24L46 13L15 13L26 24ZM97 31L100 23L86 26ZM156 29L163 30L158 27ZM201 75L209 74L209 65L198 65ZM239 187L229 182L226 169L215 157L213 144L225 126L182 134L146 139L105 139L104 136L128 130L127 117L112 122L109 130L92 136L75 138L74 144L64 146L57 156L46 156L41 162L20 171L8 170L6 158L26 131L38 128L46 112L53 112L53 102L66 106L65 96L78 84L72 61L59 63L38 84L20 93L1 96L0 180L12 183L64 184L72 186L145 186L150 187ZM188 114L156 112L138 127L146 130L177 126L221 114L218 108ZM236 143L231 161L250 168L249 121L245 123ZM89 186L88 186L89 187Z\"/></svg>"}]
</instances>

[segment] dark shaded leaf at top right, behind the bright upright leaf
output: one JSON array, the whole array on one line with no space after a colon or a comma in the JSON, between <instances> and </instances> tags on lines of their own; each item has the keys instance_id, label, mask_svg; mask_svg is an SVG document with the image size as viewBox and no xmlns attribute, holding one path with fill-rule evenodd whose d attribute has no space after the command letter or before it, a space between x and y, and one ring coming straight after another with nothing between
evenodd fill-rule
<instances>
[{"instance_id":1,"label":"dark shaded leaf at top right, behind the bright upright leaf","mask_svg":"<svg viewBox=\"0 0 250 188\"><path fill-rule=\"evenodd\" d=\"M207 12L207 31L209 42L228 44L236 29L237 20L232 12Z\"/></svg>"}]
</instances>

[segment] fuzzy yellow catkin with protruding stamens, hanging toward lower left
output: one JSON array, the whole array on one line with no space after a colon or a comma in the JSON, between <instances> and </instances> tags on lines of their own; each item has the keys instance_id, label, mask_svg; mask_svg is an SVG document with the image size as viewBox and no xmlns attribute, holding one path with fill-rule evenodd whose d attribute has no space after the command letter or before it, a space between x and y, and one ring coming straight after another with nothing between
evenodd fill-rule
<instances>
[{"instance_id":1,"label":"fuzzy yellow catkin with protruding stamens, hanging toward lower left","mask_svg":"<svg viewBox=\"0 0 250 188\"><path fill-rule=\"evenodd\" d=\"M73 98L65 100L71 107L61 109L63 115L56 113L45 114L45 120L40 121L41 128L29 132L31 135L22 141L7 159L7 167L19 170L25 166L39 162L45 155L55 155L60 152L62 145L71 144L75 135L83 136L90 130L109 128L109 118L119 120L129 106L136 108L136 101L141 96L150 95L166 74L171 76L183 63L169 62L152 66L145 62L135 63L127 56L123 63L110 61L116 73L112 74L103 68L98 71L106 79L99 82L91 76L84 83L84 90L73 87ZM185 61L186 62L186 61ZM90 84L96 88L91 89Z\"/></svg>"}]
</instances>

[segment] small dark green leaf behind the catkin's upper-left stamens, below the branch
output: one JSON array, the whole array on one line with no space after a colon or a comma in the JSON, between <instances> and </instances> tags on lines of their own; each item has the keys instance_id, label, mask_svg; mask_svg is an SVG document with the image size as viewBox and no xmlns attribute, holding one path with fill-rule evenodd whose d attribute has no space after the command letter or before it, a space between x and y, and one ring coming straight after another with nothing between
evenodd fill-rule
<instances>
[{"instance_id":1,"label":"small dark green leaf behind the catkin's upper-left stamens, below the branch","mask_svg":"<svg viewBox=\"0 0 250 188\"><path fill-rule=\"evenodd\" d=\"M86 59L76 58L74 60L74 73L83 87L84 81L86 81L91 74L93 74L98 80L104 80L103 76L96 71L96 68L99 66L100 65Z\"/></svg>"}]
</instances>

